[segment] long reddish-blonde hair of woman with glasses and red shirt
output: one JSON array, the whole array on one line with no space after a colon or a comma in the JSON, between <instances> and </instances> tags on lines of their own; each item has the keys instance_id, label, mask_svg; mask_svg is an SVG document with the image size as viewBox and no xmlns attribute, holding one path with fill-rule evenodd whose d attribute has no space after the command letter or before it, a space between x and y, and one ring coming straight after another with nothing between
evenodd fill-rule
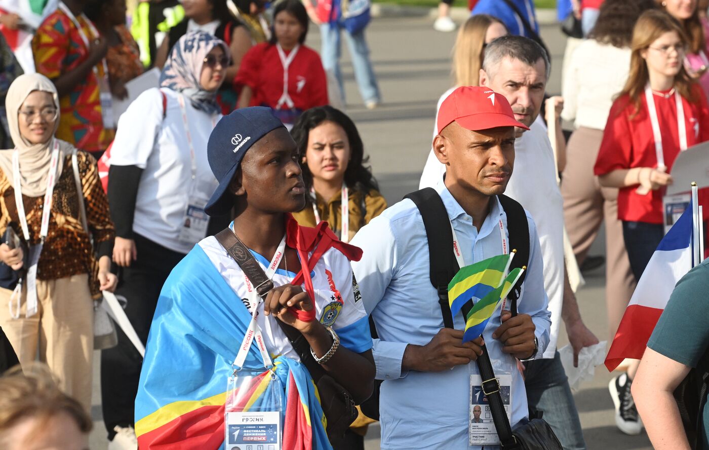
<instances>
[{"instance_id":1,"label":"long reddish-blonde hair of woman with glasses and red shirt","mask_svg":"<svg viewBox=\"0 0 709 450\"><path fill-rule=\"evenodd\" d=\"M679 23L664 11L657 9L645 11L640 15L640 18L637 19L637 23L635 23L635 28L632 30L632 43L630 43L630 49L632 50L630 56L630 73L627 77L627 82L625 82L625 87L623 87L623 91L618 94L618 97L622 97L623 95L630 97L630 101L635 104L635 114L637 114L637 111L640 111L640 99L645 90L645 86L649 82L647 62L642 57L641 53L643 50L647 50L661 35L672 31L679 35L679 38L685 45L687 44L687 36L681 26L679 26ZM687 101L691 103L698 101L696 96L691 94L693 81L682 65L680 65L680 70L674 77L674 87ZM635 116L635 114L633 114L633 116Z\"/></svg>"}]
</instances>

